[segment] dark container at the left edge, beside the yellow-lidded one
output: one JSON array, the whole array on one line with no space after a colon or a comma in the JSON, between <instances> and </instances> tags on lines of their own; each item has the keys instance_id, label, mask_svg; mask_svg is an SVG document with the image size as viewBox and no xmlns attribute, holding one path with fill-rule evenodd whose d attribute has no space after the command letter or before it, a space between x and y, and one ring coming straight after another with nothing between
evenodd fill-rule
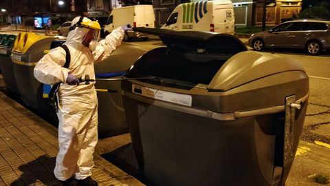
<instances>
[{"instance_id":1,"label":"dark container at the left edge, beside the yellow-lidded one","mask_svg":"<svg viewBox=\"0 0 330 186\"><path fill-rule=\"evenodd\" d=\"M13 34L2 35L2 39L0 40L0 69L7 92L14 96L19 96L19 90L12 68L12 60L10 59L15 39L16 36Z\"/></svg>"}]
</instances>

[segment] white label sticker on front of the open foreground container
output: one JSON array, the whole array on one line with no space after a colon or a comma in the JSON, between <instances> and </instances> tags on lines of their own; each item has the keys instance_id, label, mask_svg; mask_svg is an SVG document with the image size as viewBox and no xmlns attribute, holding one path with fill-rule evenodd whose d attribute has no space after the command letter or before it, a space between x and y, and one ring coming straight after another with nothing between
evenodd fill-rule
<instances>
[{"instance_id":1,"label":"white label sticker on front of the open foreground container","mask_svg":"<svg viewBox=\"0 0 330 186\"><path fill-rule=\"evenodd\" d=\"M190 95L155 90L152 88L142 87L140 85L135 84L132 85L132 92L135 94L146 96L148 98L168 101L171 103L177 103L179 105L191 107L192 97Z\"/></svg>"}]
</instances>

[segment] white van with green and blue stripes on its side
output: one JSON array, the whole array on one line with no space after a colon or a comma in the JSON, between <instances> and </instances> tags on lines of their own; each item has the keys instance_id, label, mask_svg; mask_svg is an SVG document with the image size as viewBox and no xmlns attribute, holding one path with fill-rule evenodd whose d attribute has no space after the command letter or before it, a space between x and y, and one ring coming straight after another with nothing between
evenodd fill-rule
<instances>
[{"instance_id":1,"label":"white van with green and blue stripes on its side","mask_svg":"<svg viewBox=\"0 0 330 186\"><path fill-rule=\"evenodd\" d=\"M162 29L208 31L234 34L232 1L199 1L177 6Z\"/></svg>"}]
</instances>

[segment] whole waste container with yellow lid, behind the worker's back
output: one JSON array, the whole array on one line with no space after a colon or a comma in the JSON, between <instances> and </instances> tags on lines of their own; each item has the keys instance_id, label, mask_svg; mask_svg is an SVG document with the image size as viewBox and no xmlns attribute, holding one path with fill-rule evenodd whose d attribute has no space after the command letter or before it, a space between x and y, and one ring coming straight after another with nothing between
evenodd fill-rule
<instances>
[{"instance_id":1,"label":"whole waste container with yellow lid, behind the worker's back","mask_svg":"<svg viewBox=\"0 0 330 186\"><path fill-rule=\"evenodd\" d=\"M52 37L34 33L20 32L12 49L12 62L17 87L23 103L36 110L52 110L43 99L43 83L34 78L36 63L43 57L44 50L49 50Z\"/></svg>"}]
</instances>

